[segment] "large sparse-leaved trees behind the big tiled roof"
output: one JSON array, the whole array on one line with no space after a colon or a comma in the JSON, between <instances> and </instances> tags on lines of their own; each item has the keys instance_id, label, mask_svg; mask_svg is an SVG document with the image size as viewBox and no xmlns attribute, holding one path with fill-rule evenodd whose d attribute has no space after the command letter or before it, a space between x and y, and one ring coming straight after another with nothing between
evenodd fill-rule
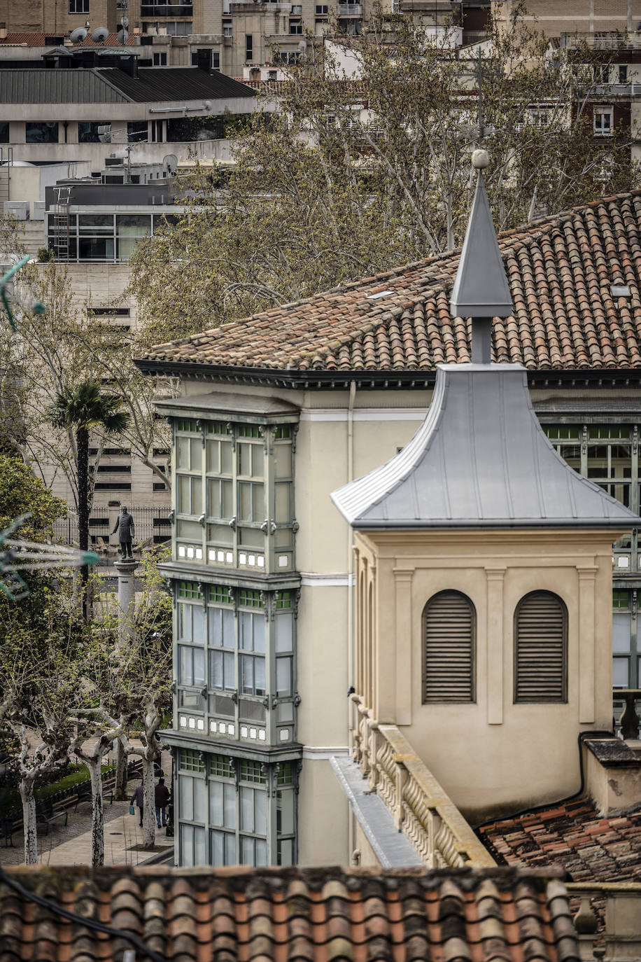
<instances>
[{"instance_id":1,"label":"large sparse-leaved trees behind the big tiled roof","mask_svg":"<svg viewBox=\"0 0 641 962\"><path fill-rule=\"evenodd\" d=\"M604 52L553 57L523 13L513 8L509 32L492 28L482 55L482 130L476 57L431 44L401 15L375 16L366 38L339 38L335 56L326 46L318 70L291 69L238 132L234 166L196 165L176 229L136 249L131 290L145 323L136 347L459 246L480 143L499 229L629 190L638 179L629 132L606 143L592 132Z\"/></svg>"}]
</instances>

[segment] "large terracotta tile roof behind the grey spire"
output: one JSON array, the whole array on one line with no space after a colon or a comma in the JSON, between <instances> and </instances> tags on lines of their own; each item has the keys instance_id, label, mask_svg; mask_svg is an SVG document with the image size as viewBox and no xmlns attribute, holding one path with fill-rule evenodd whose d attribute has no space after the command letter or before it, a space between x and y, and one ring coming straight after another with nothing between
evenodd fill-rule
<instances>
[{"instance_id":1,"label":"large terracotta tile roof behind the grey spire","mask_svg":"<svg viewBox=\"0 0 641 962\"><path fill-rule=\"evenodd\" d=\"M641 368L641 191L539 219L500 235L500 246L514 314L494 320L496 361ZM400 267L156 345L145 360L300 371L467 362L469 324L449 311L457 265L456 252ZM612 284L629 285L629 300Z\"/></svg>"}]
</instances>

